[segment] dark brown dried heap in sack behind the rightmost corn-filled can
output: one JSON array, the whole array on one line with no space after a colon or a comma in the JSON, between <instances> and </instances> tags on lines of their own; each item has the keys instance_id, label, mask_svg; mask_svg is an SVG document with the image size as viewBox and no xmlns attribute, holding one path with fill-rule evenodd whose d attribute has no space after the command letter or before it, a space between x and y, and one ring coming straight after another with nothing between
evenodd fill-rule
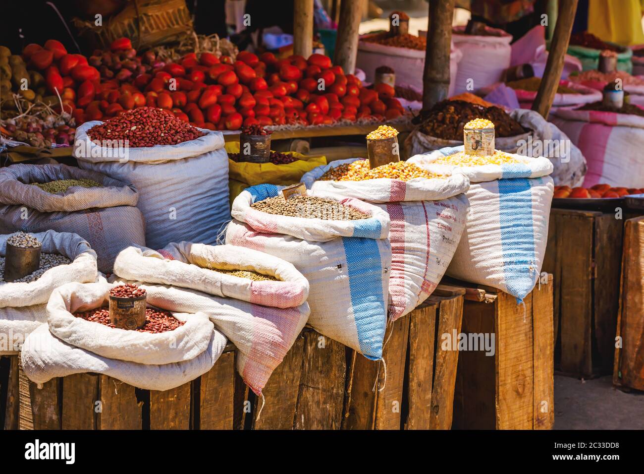
<instances>
[{"instance_id":1,"label":"dark brown dried heap in sack behind the rightmost corn-filled can","mask_svg":"<svg viewBox=\"0 0 644 474\"><path fill-rule=\"evenodd\" d=\"M491 121L497 137L513 137L526 130L499 107L483 107L465 101L441 101L421 116L421 130L431 137L462 141L463 126L478 117Z\"/></svg>"}]
</instances>

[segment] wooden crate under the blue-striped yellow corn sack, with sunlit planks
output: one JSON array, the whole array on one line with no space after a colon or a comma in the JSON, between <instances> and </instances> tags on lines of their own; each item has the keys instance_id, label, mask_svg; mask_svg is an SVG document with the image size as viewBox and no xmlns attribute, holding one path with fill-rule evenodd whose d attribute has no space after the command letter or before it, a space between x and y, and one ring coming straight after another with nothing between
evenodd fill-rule
<instances>
[{"instance_id":1,"label":"wooden crate under the blue-striped yellow corn sack, with sunlit planks","mask_svg":"<svg viewBox=\"0 0 644 474\"><path fill-rule=\"evenodd\" d=\"M462 332L495 335L494 355L461 351L454 428L549 430L554 422L553 281L547 275L516 304L494 288L466 299Z\"/></svg>"}]
</instances>

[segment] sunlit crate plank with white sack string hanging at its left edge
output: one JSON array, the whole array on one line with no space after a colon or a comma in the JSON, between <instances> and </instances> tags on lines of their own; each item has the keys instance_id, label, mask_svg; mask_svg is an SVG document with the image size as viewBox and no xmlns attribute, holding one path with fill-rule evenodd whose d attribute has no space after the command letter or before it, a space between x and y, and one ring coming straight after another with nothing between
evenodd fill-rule
<instances>
[{"instance_id":1,"label":"sunlit crate plank with white sack string hanging at its left edge","mask_svg":"<svg viewBox=\"0 0 644 474\"><path fill-rule=\"evenodd\" d=\"M403 382L410 315L394 321L384 335L383 360L378 374L376 430L400 430ZM384 365L386 364L386 366Z\"/></svg>"}]
</instances>

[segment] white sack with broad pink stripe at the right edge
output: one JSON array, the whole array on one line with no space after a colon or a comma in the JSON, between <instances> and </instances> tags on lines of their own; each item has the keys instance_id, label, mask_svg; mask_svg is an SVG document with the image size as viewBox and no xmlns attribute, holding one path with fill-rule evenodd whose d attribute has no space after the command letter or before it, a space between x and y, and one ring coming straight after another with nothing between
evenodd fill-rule
<instances>
[{"instance_id":1,"label":"white sack with broad pink stripe at the right edge","mask_svg":"<svg viewBox=\"0 0 644 474\"><path fill-rule=\"evenodd\" d=\"M551 122L579 147L588 171L583 186L607 183L639 188L644 183L644 117L594 110L558 109Z\"/></svg>"}]
</instances>

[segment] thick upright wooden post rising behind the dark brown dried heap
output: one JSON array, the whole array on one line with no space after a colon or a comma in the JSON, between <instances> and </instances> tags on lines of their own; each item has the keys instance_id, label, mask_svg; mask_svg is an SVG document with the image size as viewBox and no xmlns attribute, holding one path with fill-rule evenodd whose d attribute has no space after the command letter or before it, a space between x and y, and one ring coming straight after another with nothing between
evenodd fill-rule
<instances>
[{"instance_id":1,"label":"thick upright wooden post rising behind the dark brown dried heap","mask_svg":"<svg viewBox=\"0 0 644 474\"><path fill-rule=\"evenodd\" d=\"M425 69L422 73L422 109L447 99L450 88L451 20L454 0L431 0Z\"/></svg>"}]
</instances>

